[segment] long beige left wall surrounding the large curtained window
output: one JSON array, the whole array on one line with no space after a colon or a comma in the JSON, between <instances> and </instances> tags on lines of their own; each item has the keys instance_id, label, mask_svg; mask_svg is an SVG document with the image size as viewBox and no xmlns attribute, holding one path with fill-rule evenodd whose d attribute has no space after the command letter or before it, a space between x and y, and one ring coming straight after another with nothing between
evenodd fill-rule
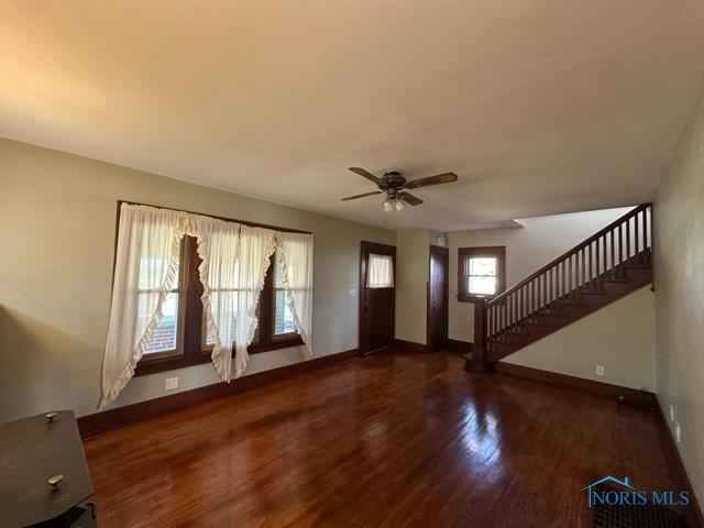
<instances>
[{"instance_id":1,"label":"long beige left wall surrounding the large curtained window","mask_svg":"<svg viewBox=\"0 0 704 528\"><path fill-rule=\"evenodd\" d=\"M358 346L360 241L392 231L0 140L0 421L53 408L92 413L98 399L116 229L128 199L312 231L316 355ZM425 328L425 326L424 326ZM248 374L300 360L253 356ZM116 405L216 383L211 365L134 378Z\"/></svg>"}]
</instances>

